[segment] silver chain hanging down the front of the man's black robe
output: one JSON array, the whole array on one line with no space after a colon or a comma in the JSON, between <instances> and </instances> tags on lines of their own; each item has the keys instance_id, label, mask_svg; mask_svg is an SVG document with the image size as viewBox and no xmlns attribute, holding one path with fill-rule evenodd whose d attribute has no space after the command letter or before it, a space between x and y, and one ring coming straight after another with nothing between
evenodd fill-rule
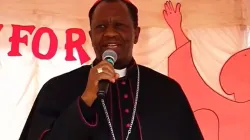
<instances>
[{"instance_id":1,"label":"silver chain hanging down the front of the man's black robe","mask_svg":"<svg viewBox=\"0 0 250 140\"><path fill-rule=\"evenodd\" d=\"M134 120L135 120L136 107L137 107L138 95L139 95L139 89L140 89L140 70L139 70L138 65L136 65L136 66L137 66L137 87L136 87L136 95L135 95L135 104L134 104L132 118L131 118L131 122L130 122L130 126L129 126L129 129L128 129L128 134L127 134L126 140L128 140L128 138L129 138L129 135L131 133L132 126L133 126L133 123L134 123ZM92 67L93 67L93 65L92 65ZM110 118L109 118L109 114L108 114L107 107L105 105L104 99L101 99L101 102L102 102L102 106L103 106L103 109L104 109L104 112L105 112L105 115L106 115L106 119L108 121L108 125L109 125L109 128L110 128L113 140L116 140L114 130L112 128L112 124L111 124L111 121L110 121Z\"/></svg>"}]
</instances>

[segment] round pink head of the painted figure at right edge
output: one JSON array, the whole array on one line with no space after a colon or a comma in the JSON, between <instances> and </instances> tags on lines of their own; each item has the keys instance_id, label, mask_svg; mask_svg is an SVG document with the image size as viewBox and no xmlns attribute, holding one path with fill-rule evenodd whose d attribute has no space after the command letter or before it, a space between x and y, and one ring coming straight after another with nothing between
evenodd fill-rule
<instances>
[{"instance_id":1,"label":"round pink head of the painted figure at right edge","mask_svg":"<svg viewBox=\"0 0 250 140\"><path fill-rule=\"evenodd\" d=\"M250 48L231 56L221 69L220 84L237 102L250 100Z\"/></svg>"}]
</instances>

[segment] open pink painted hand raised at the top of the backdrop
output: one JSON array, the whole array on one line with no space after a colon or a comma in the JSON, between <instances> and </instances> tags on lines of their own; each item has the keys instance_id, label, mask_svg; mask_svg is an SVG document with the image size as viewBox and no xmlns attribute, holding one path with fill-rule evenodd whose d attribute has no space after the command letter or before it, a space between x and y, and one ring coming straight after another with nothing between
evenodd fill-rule
<instances>
[{"instance_id":1,"label":"open pink painted hand raised at the top of the backdrop","mask_svg":"<svg viewBox=\"0 0 250 140\"><path fill-rule=\"evenodd\" d=\"M172 30L181 28L182 16L180 9L180 3L177 3L175 8L173 7L171 1L166 1L166 3L164 4L163 16Z\"/></svg>"}]
</instances>

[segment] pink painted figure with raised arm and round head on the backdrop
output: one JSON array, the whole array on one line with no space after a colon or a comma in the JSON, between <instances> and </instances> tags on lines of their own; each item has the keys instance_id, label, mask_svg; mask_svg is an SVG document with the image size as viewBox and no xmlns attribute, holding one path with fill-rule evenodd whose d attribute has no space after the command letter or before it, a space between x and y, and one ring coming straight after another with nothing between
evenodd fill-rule
<instances>
[{"instance_id":1,"label":"pink painted figure with raised arm and round head on the backdrop","mask_svg":"<svg viewBox=\"0 0 250 140\"><path fill-rule=\"evenodd\" d=\"M204 82L193 62L191 40L181 27L180 9L179 3L176 7L170 1L164 4L163 15L173 32L176 46L168 58L169 76L178 81L185 91L205 140L250 140L250 102L229 100ZM238 58L229 59L220 77L223 89L241 101L248 100L250 94L250 77L247 76L250 54L249 51L248 54L246 50L244 52Z\"/></svg>"}]
</instances>

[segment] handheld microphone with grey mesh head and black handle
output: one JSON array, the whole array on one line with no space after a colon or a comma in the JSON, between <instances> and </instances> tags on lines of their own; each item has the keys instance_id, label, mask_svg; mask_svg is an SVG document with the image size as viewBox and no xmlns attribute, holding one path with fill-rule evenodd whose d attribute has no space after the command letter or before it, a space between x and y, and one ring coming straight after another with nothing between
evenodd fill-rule
<instances>
[{"instance_id":1,"label":"handheld microphone with grey mesh head and black handle","mask_svg":"<svg viewBox=\"0 0 250 140\"><path fill-rule=\"evenodd\" d=\"M102 54L102 59L106 60L107 62L109 62L110 64L112 64L114 66L116 60L117 60L117 54L115 51L113 50L106 50L103 54ZM98 83L98 92L97 92L97 97L104 99L105 95L108 92L108 88L109 88L109 80L100 80Z\"/></svg>"}]
</instances>

